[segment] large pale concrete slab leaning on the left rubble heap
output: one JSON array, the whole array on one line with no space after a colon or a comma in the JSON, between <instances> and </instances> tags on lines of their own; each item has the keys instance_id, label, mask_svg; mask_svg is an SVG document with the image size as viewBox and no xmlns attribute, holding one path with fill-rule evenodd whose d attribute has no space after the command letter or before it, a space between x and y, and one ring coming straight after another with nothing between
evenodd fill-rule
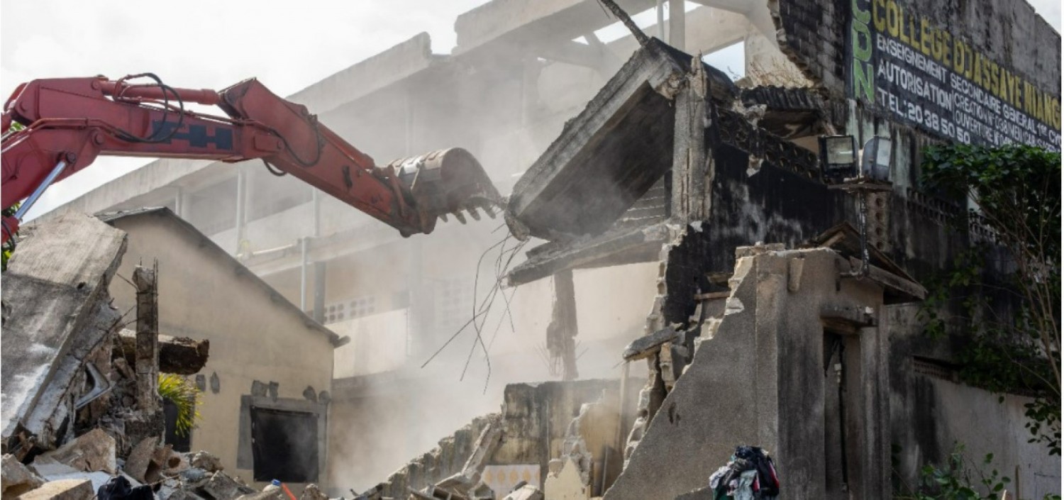
<instances>
[{"instance_id":1,"label":"large pale concrete slab leaning on the left rubble heap","mask_svg":"<svg viewBox=\"0 0 1064 500\"><path fill-rule=\"evenodd\" d=\"M4 452L53 449L73 437L86 363L103 359L121 314L107 286L126 251L126 234L84 215L27 224L4 272ZM100 349L106 349L98 355ZM107 381L97 381L103 386ZM20 436L20 437L19 437ZM14 438L14 440L12 440Z\"/></svg>"}]
</instances>

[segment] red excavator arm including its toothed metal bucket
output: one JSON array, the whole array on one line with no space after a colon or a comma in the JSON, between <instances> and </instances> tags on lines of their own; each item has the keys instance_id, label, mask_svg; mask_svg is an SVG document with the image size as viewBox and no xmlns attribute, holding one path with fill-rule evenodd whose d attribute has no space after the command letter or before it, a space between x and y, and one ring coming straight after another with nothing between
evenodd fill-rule
<instances>
[{"instance_id":1,"label":"red excavator arm including its toothed metal bucket","mask_svg":"<svg viewBox=\"0 0 1064 500\"><path fill-rule=\"evenodd\" d=\"M148 77L153 84L131 84ZM187 102L217 105L228 117L193 113ZM12 122L26 128L9 132ZM261 159L399 230L431 233L437 217L462 211L494 217L499 194L463 149L384 167L344 141L306 107L273 95L255 79L221 91L172 88L151 73L34 80L7 100L2 122L3 241L37 197L87 167L97 155L165 156L240 162Z\"/></svg>"}]
</instances>

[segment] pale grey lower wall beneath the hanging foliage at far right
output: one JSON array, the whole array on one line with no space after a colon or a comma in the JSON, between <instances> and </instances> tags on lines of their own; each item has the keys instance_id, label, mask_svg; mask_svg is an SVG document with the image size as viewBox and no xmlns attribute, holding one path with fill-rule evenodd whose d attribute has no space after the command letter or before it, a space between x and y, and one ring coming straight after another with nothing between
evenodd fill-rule
<instances>
[{"instance_id":1,"label":"pale grey lower wall beneath the hanging foliage at far right","mask_svg":"<svg viewBox=\"0 0 1064 500\"><path fill-rule=\"evenodd\" d=\"M1024 404L1029 398L999 395L960 382L953 349L932 341L917 319L919 306L886 307L891 335L891 439L898 481L912 485L928 462L941 461L963 444L978 461L994 454L991 468L1019 485L1023 497L1059 493L1061 459L1044 445L1028 443ZM955 339L954 339L955 341Z\"/></svg>"}]
</instances>

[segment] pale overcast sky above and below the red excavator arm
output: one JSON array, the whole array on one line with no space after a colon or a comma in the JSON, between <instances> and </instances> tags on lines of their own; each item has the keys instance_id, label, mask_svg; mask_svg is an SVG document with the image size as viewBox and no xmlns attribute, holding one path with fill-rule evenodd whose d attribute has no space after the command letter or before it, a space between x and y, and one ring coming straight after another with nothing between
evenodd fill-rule
<instances>
[{"instance_id":1,"label":"pale overcast sky above and below the red excavator arm","mask_svg":"<svg viewBox=\"0 0 1064 500\"><path fill-rule=\"evenodd\" d=\"M3 1L0 98L35 78L145 71L192 88L257 77L287 96L422 31L433 52L448 53L454 18L485 1ZM1060 32L1060 0L1032 3ZM100 157L49 188L30 216L149 161Z\"/></svg>"}]
</instances>

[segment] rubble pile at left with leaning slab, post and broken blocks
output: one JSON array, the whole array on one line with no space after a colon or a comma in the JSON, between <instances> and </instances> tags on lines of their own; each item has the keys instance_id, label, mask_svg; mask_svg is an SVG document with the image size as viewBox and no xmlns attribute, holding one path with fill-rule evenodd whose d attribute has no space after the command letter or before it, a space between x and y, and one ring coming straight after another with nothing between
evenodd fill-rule
<instances>
[{"instance_id":1,"label":"rubble pile at left with leaning slab, post and broken blocks","mask_svg":"<svg viewBox=\"0 0 1064 500\"><path fill-rule=\"evenodd\" d=\"M136 331L121 329L132 321L111 305L107 285L126 245L123 232L77 215L23 231L2 291L0 495L287 498L286 489L248 487L207 452L179 453L163 443L159 373L199 371L210 345L159 335L156 268L136 267ZM131 487L142 496L129 495ZM322 498L314 485L302 493Z\"/></svg>"}]
</instances>

